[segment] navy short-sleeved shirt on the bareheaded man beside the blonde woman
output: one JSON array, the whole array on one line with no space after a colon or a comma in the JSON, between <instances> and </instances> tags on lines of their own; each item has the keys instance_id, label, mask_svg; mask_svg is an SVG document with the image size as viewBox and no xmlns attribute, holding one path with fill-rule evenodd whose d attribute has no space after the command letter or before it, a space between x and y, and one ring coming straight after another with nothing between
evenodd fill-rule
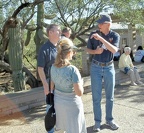
<instances>
[{"instance_id":1,"label":"navy short-sleeved shirt on the bareheaded man beside the blonde woman","mask_svg":"<svg viewBox=\"0 0 144 133\"><path fill-rule=\"evenodd\" d=\"M57 48L50 41L47 41L39 50L37 65L43 67L46 78L49 77L49 69L55 61Z\"/></svg>"}]
</instances>

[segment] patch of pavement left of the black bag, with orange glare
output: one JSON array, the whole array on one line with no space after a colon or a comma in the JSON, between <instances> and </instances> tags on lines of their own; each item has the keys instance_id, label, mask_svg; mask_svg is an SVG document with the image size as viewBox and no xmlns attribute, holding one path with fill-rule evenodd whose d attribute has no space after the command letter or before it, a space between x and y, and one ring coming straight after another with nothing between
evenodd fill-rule
<instances>
[{"instance_id":1,"label":"patch of pavement left of the black bag, with orange glare","mask_svg":"<svg viewBox=\"0 0 144 133\"><path fill-rule=\"evenodd\" d=\"M0 117L0 133L45 133L45 106Z\"/></svg>"}]
</instances>

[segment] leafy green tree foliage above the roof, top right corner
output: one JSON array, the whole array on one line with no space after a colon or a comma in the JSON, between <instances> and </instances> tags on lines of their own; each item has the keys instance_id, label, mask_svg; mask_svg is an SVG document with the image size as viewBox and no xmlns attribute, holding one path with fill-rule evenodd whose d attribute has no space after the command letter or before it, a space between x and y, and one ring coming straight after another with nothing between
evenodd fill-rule
<instances>
[{"instance_id":1,"label":"leafy green tree foliage above the roof, top right corner","mask_svg":"<svg viewBox=\"0 0 144 133\"><path fill-rule=\"evenodd\" d=\"M144 25L144 2L143 0L113 1L114 15L123 23Z\"/></svg>"}]
</instances>

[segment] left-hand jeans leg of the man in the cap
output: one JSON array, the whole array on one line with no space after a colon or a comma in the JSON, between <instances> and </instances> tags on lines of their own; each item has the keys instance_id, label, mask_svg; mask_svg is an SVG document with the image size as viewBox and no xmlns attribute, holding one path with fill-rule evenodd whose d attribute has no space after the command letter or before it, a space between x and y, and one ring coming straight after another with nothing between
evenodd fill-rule
<instances>
[{"instance_id":1,"label":"left-hand jeans leg of the man in the cap","mask_svg":"<svg viewBox=\"0 0 144 133\"><path fill-rule=\"evenodd\" d=\"M102 68L92 63L90 75L91 75L94 120L96 126L100 128L102 117L101 116Z\"/></svg>"}]
</instances>

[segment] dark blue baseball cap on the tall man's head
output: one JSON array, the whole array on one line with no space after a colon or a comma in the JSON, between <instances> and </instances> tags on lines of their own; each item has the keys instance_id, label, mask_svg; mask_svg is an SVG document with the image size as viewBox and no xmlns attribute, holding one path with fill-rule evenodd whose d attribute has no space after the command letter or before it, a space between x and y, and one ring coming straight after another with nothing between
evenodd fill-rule
<instances>
[{"instance_id":1,"label":"dark blue baseball cap on the tall man's head","mask_svg":"<svg viewBox=\"0 0 144 133\"><path fill-rule=\"evenodd\" d=\"M110 23L112 22L112 19L109 15L100 15L100 18L96 22L99 24Z\"/></svg>"}]
</instances>

